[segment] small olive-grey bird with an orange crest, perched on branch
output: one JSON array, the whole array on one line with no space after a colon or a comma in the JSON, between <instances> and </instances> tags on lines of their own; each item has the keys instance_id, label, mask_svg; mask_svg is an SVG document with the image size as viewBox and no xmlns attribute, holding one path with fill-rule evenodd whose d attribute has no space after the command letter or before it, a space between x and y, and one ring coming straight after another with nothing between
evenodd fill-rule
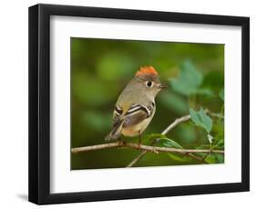
<instances>
[{"instance_id":1,"label":"small olive-grey bird with an orange crest, perched on branch","mask_svg":"<svg viewBox=\"0 0 256 209\"><path fill-rule=\"evenodd\" d=\"M141 66L118 96L113 111L112 130L105 140L119 140L121 135L139 136L138 144L141 144L141 134L156 113L155 98L166 87L161 84L153 66Z\"/></svg>"}]
</instances>

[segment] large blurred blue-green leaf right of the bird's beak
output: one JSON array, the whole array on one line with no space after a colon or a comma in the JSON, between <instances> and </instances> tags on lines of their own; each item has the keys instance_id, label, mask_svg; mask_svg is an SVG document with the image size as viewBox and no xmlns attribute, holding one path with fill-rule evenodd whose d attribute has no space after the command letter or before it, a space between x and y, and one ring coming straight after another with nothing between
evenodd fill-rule
<instances>
[{"instance_id":1,"label":"large blurred blue-green leaf right of the bird's beak","mask_svg":"<svg viewBox=\"0 0 256 209\"><path fill-rule=\"evenodd\" d=\"M181 95L191 95L196 93L203 80L203 75L196 69L191 61L186 60L180 66L178 78L170 80L173 90Z\"/></svg>"}]
</instances>

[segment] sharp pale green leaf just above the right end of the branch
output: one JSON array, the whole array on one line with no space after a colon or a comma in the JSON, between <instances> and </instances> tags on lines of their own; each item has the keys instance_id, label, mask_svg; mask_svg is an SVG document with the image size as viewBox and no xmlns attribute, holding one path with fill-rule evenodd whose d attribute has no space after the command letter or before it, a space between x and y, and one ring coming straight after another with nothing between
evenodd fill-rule
<instances>
[{"instance_id":1,"label":"sharp pale green leaf just above the right end of the branch","mask_svg":"<svg viewBox=\"0 0 256 209\"><path fill-rule=\"evenodd\" d=\"M191 116L191 120L194 124L205 129L207 133L210 133L210 130L212 128L212 120L202 108L200 108L199 112L196 112L192 108L189 108L189 113Z\"/></svg>"}]
</instances>

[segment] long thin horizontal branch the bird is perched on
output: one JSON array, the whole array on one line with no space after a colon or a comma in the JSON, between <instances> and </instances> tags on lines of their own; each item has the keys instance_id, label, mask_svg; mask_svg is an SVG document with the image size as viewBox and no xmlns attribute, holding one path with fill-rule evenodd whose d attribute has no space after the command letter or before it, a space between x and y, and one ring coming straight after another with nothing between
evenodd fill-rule
<instances>
[{"instance_id":1,"label":"long thin horizontal branch the bird is perched on","mask_svg":"<svg viewBox=\"0 0 256 209\"><path fill-rule=\"evenodd\" d=\"M72 148L71 152L73 154L77 154L77 153L81 153L81 152L87 152L87 151L93 151L93 150L102 150L102 149L108 149L108 148L114 148L114 147L128 147L128 148L143 150L143 151L147 151L147 152L152 152L152 153L155 153L155 154L159 154L159 152L179 153L179 154L193 154L193 153L224 154L224 150L180 149L180 148L150 146L150 145L144 145L144 144L134 144L134 143L127 143L127 142L123 142L123 141L118 141L118 142L115 142L115 143L108 143L108 144L97 144L97 145L91 145L91 146L83 146L83 147Z\"/></svg>"}]
</instances>

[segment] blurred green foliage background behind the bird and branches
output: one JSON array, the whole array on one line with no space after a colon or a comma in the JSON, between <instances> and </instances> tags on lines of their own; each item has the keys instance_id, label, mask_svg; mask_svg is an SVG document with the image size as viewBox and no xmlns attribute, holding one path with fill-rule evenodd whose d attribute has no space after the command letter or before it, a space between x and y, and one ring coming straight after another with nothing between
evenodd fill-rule
<instances>
[{"instance_id":1,"label":"blurred green foliage background behind the bird and branches","mask_svg":"<svg viewBox=\"0 0 256 209\"><path fill-rule=\"evenodd\" d=\"M153 65L169 88L143 133L158 145L224 149L224 45L71 38L71 147L103 144L118 95L141 65ZM190 111L189 111L190 110ZM212 114L208 114L210 111ZM185 114L191 120L161 133ZM138 137L127 138L138 142ZM125 148L71 154L71 169L125 167L139 151ZM198 154L209 164L223 154ZM136 166L199 164L181 154L148 153Z\"/></svg>"}]
</instances>

